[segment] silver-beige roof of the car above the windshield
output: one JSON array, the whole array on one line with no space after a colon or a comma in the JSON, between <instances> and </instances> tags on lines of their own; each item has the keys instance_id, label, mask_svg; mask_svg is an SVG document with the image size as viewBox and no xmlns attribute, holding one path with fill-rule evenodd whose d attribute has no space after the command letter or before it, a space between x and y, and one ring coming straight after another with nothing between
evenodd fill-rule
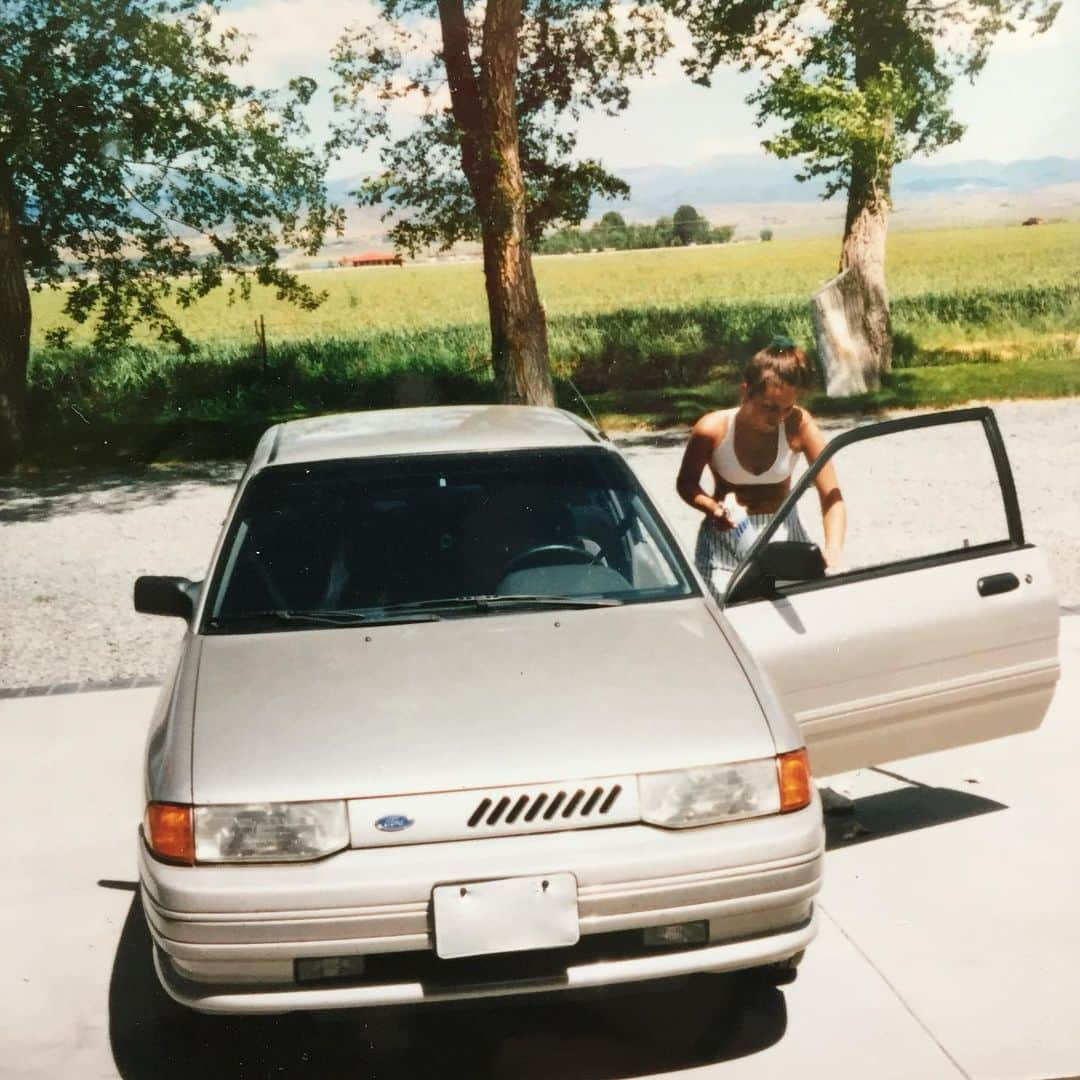
<instances>
[{"instance_id":1,"label":"silver-beige roof of the car above the windshield","mask_svg":"<svg viewBox=\"0 0 1080 1080\"><path fill-rule=\"evenodd\" d=\"M588 446L603 437L572 413L536 405L373 409L276 424L259 440L252 465Z\"/></svg>"}]
</instances>

